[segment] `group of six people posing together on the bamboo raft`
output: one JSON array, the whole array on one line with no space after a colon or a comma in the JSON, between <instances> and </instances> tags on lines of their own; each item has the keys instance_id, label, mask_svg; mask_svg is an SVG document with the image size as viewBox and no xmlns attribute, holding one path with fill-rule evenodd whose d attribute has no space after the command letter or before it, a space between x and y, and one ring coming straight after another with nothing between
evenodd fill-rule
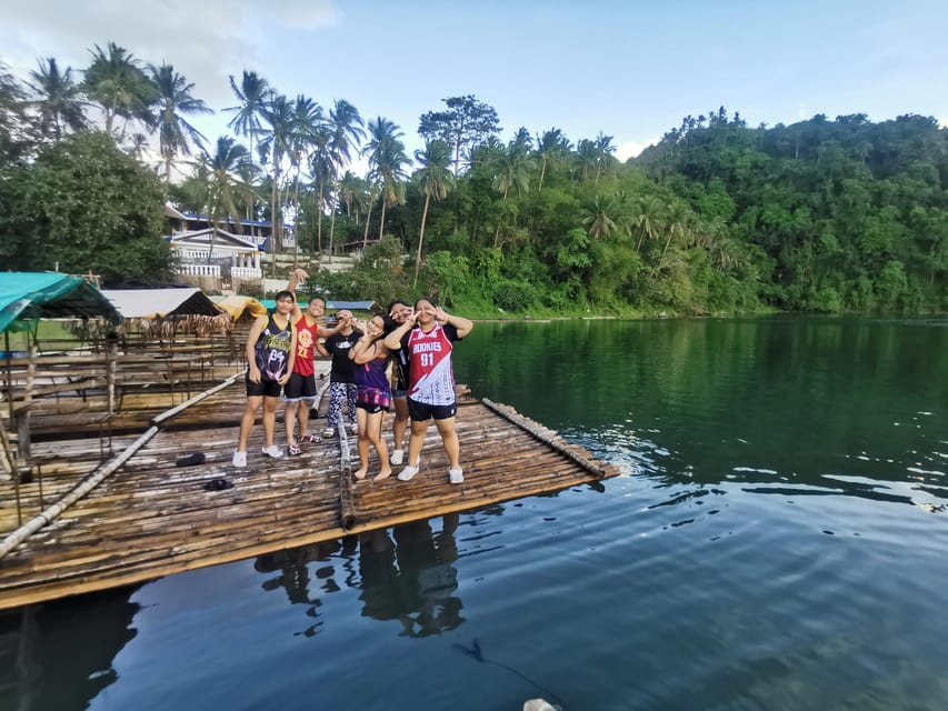
<instances>
[{"instance_id":1,"label":"group of six people posing together on the bamboo raft","mask_svg":"<svg viewBox=\"0 0 948 711\"><path fill-rule=\"evenodd\" d=\"M415 478L420 469L425 435L433 419L448 454L448 479L461 483L463 470L455 430L457 398L451 354L453 342L467 336L473 323L422 298L413 308L393 301L388 316L373 316L366 322L341 310L332 328L321 327L325 300L315 297L301 307L296 299L296 287L306 278L305 271L295 270L287 290L276 297L273 313L259 317L250 329L246 347L247 407L240 421L233 465L247 465L247 440L261 407L265 455L300 454L300 444L320 441L318 434L309 432L310 407L316 400L313 358L319 353L332 359L322 437L333 437L346 427L358 433L361 465L355 472L357 479L368 475L371 448L381 462L375 481L391 477L391 467L401 464L405 465L398 479ZM281 391L287 403L286 452L275 443ZM343 405L347 405L346 423ZM385 413L392 408L393 448L389 453L382 425ZM406 457L403 441L409 430Z\"/></svg>"}]
</instances>

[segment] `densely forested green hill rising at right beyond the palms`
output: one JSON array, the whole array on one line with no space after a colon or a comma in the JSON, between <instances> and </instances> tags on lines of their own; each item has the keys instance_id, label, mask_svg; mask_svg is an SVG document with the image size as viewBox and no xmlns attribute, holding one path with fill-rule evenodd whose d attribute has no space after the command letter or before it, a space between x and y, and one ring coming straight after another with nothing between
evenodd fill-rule
<instances>
[{"instance_id":1,"label":"densely forested green hill rising at right beyond the palms","mask_svg":"<svg viewBox=\"0 0 948 711\"><path fill-rule=\"evenodd\" d=\"M948 131L930 118L751 129L721 110L688 117L635 163L687 200L728 259L766 269L766 302L948 308Z\"/></svg>"}]
</instances>

